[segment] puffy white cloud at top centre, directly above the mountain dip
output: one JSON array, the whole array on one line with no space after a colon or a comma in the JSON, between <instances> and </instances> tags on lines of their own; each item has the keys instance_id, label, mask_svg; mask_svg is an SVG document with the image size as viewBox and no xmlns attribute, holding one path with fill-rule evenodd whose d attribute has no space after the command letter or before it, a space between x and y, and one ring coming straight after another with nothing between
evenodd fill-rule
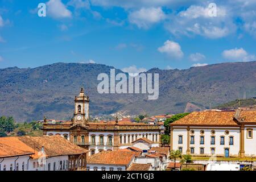
<instances>
[{"instance_id":1,"label":"puffy white cloud at top centre, directly above the mountain dip","mask_svg":"<svg viewBox=\"0 0 256 182\"><path fill-rule=\"evenodd\" d=\"M163 10L158 7L142 8L129 14L130 23L136 24L139 28L149 28L152 24L158 23L166 18Z\"/></svg>"}]
</instances>

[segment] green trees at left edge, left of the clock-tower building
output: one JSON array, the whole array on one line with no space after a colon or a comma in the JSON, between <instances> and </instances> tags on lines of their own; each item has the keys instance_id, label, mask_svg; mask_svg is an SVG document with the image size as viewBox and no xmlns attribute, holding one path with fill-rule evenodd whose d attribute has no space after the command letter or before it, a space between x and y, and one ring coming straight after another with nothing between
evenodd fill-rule
<instances>
[{"instance_id":1,"label":"green trees at left edge, left of the clock-tower building","mask_svg":"<svg viewBox=\"0 0 256 182\"><path fill-rule=\"evenodd\" d=\"M36 121L16 123L13 117L0 117L0 137L40 136L43 135L41 127L42 124Z\"/></svg>"}]
</instances>

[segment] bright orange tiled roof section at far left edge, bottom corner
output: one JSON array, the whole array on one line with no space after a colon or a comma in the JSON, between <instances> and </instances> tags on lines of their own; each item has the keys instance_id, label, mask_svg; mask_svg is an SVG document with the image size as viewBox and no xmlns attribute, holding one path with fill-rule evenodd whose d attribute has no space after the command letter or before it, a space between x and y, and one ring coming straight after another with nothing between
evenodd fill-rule
<instances>
[{"instance_id":1,"label":"bright orange tiled roof section at far left edge, bottom corner","mask_svg":"<svg viewBox=\"0 0 256 182\"><path fill-rule=\"evenodd\" d=\"M34 154L34 149L21 142L17 137L0 138L0 158Z\"/></svg>"}]
</instances>

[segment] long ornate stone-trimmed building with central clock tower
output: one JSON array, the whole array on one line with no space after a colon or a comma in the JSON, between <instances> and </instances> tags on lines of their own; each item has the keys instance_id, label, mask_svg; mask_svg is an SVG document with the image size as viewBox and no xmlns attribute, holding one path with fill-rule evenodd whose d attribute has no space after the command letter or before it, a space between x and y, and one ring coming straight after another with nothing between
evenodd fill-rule
<instances>
[{"instance_id":1,"label":"long ornate stone-trimmed building with central clock tower","mask_svg":"<svg viewBox=\"0 0 256 182\"><path fill-rule=\"evenodd\" d=\"M61 135L96 154L101 151L119 150L133 146L139 138L150 140L151 146L160 142L159 125L147 125L130 121L89 121L89 97L81 89L75 97L75 111L71 121L52 122L44 119L44 135Z\"/></svg>"}]
</instances>

